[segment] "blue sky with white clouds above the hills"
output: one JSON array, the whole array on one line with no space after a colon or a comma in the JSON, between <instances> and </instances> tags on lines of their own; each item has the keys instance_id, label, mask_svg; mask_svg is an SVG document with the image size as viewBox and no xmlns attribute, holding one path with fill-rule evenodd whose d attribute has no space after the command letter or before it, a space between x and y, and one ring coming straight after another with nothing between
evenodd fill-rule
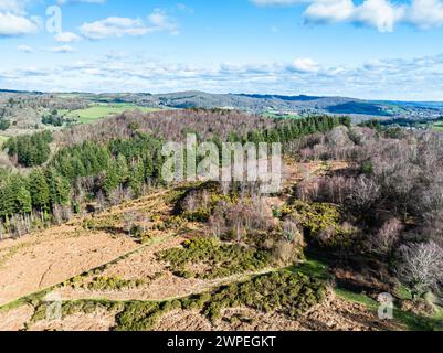
<instances>
[{"instance_id":1,"label":"blue sky with white clouds above the hills","mask_svg":"<svg viewBox=\"0 0 443 353\"><path fill-rule=\"evenodd\" d=\"M0 88L443 100L443 0L0 0Z\"/></svg>"}]
</instances>

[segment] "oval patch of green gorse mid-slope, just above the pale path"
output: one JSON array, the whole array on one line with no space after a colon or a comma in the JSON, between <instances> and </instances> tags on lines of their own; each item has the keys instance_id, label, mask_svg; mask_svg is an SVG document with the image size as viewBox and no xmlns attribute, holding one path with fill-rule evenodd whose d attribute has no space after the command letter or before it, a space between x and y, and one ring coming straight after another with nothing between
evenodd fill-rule
<instances>
[{"instance_id":1,"label":"oval patch of green gorse mid-slope, just above the pale path","mask_svg":"<svg viewBox=\"0 0 443 353\"><path fill-rule=\"evenodd\" d=\"M170 263L171 270L184 278L213 279L245 271L257 271L271 263L271 255L261 249L223 244L215 238L187 240L183 248L172 248L157 254L158 259ZM192 264L203 265L202 272L192 272Z\"/></svg>"}]
</instances>

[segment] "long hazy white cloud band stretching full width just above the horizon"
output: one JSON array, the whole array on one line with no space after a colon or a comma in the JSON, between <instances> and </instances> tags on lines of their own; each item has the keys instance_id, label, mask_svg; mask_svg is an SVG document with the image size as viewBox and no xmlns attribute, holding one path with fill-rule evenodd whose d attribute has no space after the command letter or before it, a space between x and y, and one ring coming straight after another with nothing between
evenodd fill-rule
<instances>
[{"instance_id":1,"label":"long hazy white cloud band stretching full width just above the horizon","mask_svg":"<svg viewBox=\"0 0 443 353\"><path fill-rule=\"evenodd\" d=\"M375 99L441 100L443 54L328 66L291 63L182 64L136 53L109 53L71 64L0 67L2 87L50 92L151 92L337 95Z\"/></svg>"}]
</instances>

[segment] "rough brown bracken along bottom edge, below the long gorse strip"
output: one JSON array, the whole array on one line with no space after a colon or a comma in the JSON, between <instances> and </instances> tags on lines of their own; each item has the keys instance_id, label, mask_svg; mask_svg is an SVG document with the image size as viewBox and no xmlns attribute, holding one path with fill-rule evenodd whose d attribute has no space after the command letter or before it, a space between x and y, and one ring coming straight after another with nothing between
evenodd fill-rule
<instances>
[{"instance_id":1,"label":"rough brown bracken along bottom edge, below the long gorse strip","mask_svg":"<svg viewBox=\"0 0 443 353\"><path fill-rule=\"evenodd\" d=\"M171 311L159 319L156 331L379 331L399 330L380 321L361 304L330 296L324 303L291 320L278 312L263 313L249 308L225 309L211 323L198 311Z\"/></svg>"}]
</instances>

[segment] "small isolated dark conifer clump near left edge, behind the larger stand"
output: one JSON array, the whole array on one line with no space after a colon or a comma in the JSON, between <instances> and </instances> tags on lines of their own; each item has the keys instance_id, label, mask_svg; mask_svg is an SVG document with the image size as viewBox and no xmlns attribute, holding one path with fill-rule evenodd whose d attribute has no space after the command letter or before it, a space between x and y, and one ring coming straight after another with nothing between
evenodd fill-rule
<instances>
[{"instance_id":1,"label":"small isolated dark conifer clump near left edge, behind the larger stand","mask_svg":"<svg viewBox=\"0 0 443 353\"><path fill-rule=\"evenodd\" d=\"M7 150L8 156L17 159L17 162L22 167L38 167L42 165L50 158L51 142L51 132L43 131L33 135L11 137L3 143L3 150Z\"/></svg>"}]
</instances>

